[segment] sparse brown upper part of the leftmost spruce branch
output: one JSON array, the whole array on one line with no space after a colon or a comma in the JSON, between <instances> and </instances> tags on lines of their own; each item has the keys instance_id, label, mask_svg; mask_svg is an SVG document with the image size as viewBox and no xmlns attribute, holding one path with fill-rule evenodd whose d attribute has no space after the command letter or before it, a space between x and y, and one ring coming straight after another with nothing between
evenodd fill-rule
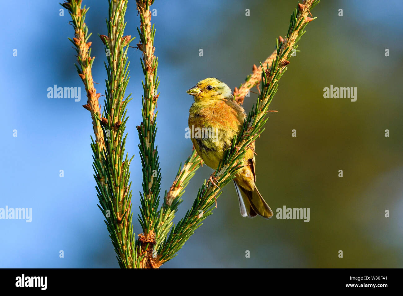
<instances>
[{"instance_id":1,"label":"sparse brown upper part of the leftmost spruce branch","mask_svg":"<svg viewBox=\"0 0 403 296\"><path fill-rule=\"evenodd\" d=\"M96 154L98 158L100 157L100 151L104 149L104 133L101 128L100 122L96 119L99 117L100 105L99 105L99 97L100 93L96 92L94 87L94 82L92 79L92 64L95 57L91 58L91 44L92 42L87 42L92 33L88 35L88 27L84 23L85 14L88 12L89 8L81 8L82 0L69 0L64 3L60 3L64 8L66 8L71 16L74 28L74 38L73 40L69 38L69 40L74 44L75 49L77 51L77 67L78 75L84 83L85 91L87 93L87 104L83 105L83 107L89 112L91 112L92 125L94 130L94 135L96 139Z\"/></svg>"}]
</instances>

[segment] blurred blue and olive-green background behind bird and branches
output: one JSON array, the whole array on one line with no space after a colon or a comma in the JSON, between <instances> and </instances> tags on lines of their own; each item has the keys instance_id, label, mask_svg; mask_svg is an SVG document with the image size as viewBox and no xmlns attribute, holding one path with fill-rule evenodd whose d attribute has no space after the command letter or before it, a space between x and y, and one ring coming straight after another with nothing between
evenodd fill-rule
<instances>
[{"instance_id":1,"label":"blurred blue and olive-green background behind bird and branches","mask_svg":"<svg viewBox=\"0 0 403 296\"><path fill-rule=\"evenodd\" d=\"M104 93L107 1L90 6L97 91ZM232 89L274 50L287 33L296 1L160 1L155 46L161 83L157 143L162 192L191 152L185 139L192 97L185 91L206 77ZM118 267L96 203L89 112L81 102L48 99L47 87L81 87L75 70L70 16L53 1L6 3L1 44L4 89L0 148L4 195L0 207L32 207L33 221L0 221L0 267ZM250 16L245 16L245 9ZM339 9L343 17L339 17ZM243 218L235 188L226 186L218 209L205 220L168 267L403 267L403 112L401 1L321 1L318 18L299 41L280 80L256 142L257 186L270 207L310 208L310 222ZM16 22L15 20L19 20ZM135 1L129 1L125 35L137 35ZM39 21L38 21L39 20ZM137 40L137 39L136 39ZM135 43L137 43L135 40ZM12 56L17 48L18 57ZM199 56L203 49L204 56ZM390 56L385 57L385 49ZM136 235L141 166L135 126L141 122L141 52L129 49L126 150L131 165ZM357 101L325 99L324 87L357 87ZM104 97L101 97L102 99ZM245 99L245 110L256 94ZM18 129L18 138L12 130ZM297 137L291 137L291 130ZM385 137L385 130L390 137ZM65 177L59 178L63 169ZM343 170L343 178L339 178ZM191 207L212 170L191 180L175 218ZM386 218L385 210L390 211ZM59 258L59 250L65 257ZM245 251L250 258L245 258ZM343 250L343 258L339 258Z\"/></svg>"}]
</instances>

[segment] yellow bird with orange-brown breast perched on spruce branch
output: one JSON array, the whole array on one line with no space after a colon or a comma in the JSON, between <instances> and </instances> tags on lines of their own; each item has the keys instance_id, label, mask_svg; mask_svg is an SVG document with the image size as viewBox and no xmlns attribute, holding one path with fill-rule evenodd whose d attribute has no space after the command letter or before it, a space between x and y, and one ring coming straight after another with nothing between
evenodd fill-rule
<instances>
[{"instance_id":1,"label":"yellow bird with orange-brown breast perched on spruce branch","mask_svg":"<svg viewBox=\"0 0 403 296\"><path fill-rule=\"evenodd\" d=\"M238 136L246 117L243 108L234 101L231 89L216 78L206 78L187 91L195 102L189 110L189 130L197 154L213 170ZM243 168L234 179L243 217L260 215L270 218L272 210L256 188L255 144L246 151ZM214 184L212 177L211 182Z\"/></svg>"}]
</instances>

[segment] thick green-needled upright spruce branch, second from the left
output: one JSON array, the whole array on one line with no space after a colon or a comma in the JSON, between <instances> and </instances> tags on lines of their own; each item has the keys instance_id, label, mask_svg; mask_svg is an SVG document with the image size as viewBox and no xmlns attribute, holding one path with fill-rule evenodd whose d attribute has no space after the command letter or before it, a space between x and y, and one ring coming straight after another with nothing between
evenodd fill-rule
<instances>
[{"instance_id":1,"label":"thick green-needled upright spruce branch, second from the left","mask_svg":"<svg viewBox=\"0 0 403 296\"><path fill-rule=\"evenodd\" d=\"M109 1L109 18L106 19L108 35L100 35L106 45L108 64L105 63L108 79L106 80L105 106L102 128L105 135L105 149L102 161L94 159L94 170L97 173L98 198L100 209L106 218L106 226L112 239L118 262L122 268L137 267L137 248L132 226L131 182L129 183L129 166L131 159L125 154L127 134L125 125L127 103L131 93L125 97L129 83L129 63L127 50L134 39L130 35L123 36L126 26L125 12L127 0ZM100 180L106 183L102 186Z\"/></svg>"}]
</instances>

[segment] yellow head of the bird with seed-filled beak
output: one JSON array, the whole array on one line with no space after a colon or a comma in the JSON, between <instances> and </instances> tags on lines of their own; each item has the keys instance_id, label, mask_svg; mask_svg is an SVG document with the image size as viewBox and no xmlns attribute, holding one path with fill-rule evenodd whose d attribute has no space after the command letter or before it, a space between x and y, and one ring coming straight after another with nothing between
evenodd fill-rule
<instances>
[{"instance_id":1,"label":"yellow head of the bird with seed-filled beak","mask_svg":"<svg viewBox=\"0 0 403 296\"><path fill-rule=\"evenodd\" d=\"M189 95L193 95L195 101L226 99L232 97L229 86L216 78L203 79L186 92L189 93Z\"/></svg>"}]
</instances>

